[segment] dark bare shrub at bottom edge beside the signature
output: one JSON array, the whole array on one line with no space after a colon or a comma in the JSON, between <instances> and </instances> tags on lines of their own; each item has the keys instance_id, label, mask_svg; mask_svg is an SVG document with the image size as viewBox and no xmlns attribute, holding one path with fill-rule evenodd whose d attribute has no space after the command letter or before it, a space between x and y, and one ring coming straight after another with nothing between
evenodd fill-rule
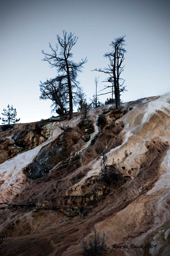
<instances>
[{"instance_id":1,"label":"dark bare shrub at bottom edge beside the signature","mask_svg":"<svg viewBox=\"0 0 170 256\"><path fill-rule=\"evenodd\" d=\"M107 245L105 242L108 236L106 236L105 232L103 231L103 236L100 237L93 223L92 223L92 227L93 227L94 235L87 236L87 238L83 239L83 241L80 242L80 244L83 247L84 255L99 256L107 248Z\"/></svg>"}]
</instances>

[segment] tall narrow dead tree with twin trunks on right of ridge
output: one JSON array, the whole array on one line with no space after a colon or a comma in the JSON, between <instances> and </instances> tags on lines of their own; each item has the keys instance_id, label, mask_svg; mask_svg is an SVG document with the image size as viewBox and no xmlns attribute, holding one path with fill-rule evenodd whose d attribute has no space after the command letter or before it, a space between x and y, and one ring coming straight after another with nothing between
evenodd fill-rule
<instances>
[{"instance_id":1,"label":"tall narrow dead tree with twin trunks on right of ridge","mask_svg":"<svg viewBox=\"0 0 170 256\"><path fill-rule=\"evenodd\" d=\"M115 103L116 108L118 109L120 109L120 93L125 91L126 87L123 86L125 80L120 77L124 68L124 66L122 66L122 62L124 61L124 54L126 53L126 50L123 48L125 45L124 37L125 36L120 36L115 38L115 40L110 44L112 46L112 51L104 54L104 57L109 59L108 68L94 69L109 75L109 80L111 81L112 85L114 85Z\"/></svg>"}]
</instances>

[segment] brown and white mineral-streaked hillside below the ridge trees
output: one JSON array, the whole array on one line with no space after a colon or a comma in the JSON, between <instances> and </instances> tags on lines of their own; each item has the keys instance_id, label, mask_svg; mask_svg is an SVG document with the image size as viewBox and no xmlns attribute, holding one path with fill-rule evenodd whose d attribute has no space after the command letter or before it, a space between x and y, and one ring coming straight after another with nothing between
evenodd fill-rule
<instances>
[{"instance_id":1,"label":"brown and white mineral-streaked hillside below the ridge trees","mask_svg":"<svg viewBox=\"0 0 170 256\"><path fill-rule=\"evenodd\" d=\"M0 253L83 256L93 222L108 234L103 255L170 255L170 93L58 125L0 127ZM101 181L102 148L122 181Z\"/></svg>"}]
</instances>

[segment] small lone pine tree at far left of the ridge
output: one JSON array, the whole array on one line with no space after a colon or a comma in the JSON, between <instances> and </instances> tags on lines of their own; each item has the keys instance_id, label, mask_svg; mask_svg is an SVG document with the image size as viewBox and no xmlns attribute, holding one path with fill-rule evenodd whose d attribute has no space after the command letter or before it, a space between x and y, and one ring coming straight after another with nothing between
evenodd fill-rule
<instances>
[{"instance_id":1,"label":"small lone pine tree at far left of the ridge","mask_svg":"<svg viewBox=\"0 0 170 256\"><path fill-rule=\"evenodd\" d=\"M10 105L8 104L7 109L3 109L4 113L2 113L3 116L6 117L0 117L0 119L2 119L2 124L15 124L17 123L19 119L16 119L16 115L17 115L17 110L16 108L13 108L13 105L10 107Z\"/></svg>"}]
</instances>

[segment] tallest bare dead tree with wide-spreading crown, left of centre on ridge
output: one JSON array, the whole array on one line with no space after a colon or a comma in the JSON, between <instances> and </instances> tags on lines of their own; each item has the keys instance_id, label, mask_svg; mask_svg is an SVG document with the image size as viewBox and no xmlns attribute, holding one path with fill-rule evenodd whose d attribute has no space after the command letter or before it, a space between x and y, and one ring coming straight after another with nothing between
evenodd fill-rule
<instances>
[{"instance_id":1,"label":"tallest bare dead tree with wide-spreading crown, left of centre on ridge","mask_svg":"<svg viewBox=\"0 0 170 256\"><path fill-rule=\"evenodd\" d=\"M68 87L69 94L69 120L73 115L73 89L79 87L79 82L76 80L78 72L81 72L83 64L87 62L87 59L82 59L78 63L72 60L73 53L71 52L73 46L76 44L78 37L74 36L74 33L67 34L63 30L63 38L57 35L57 43L55 48L49 43L51 53L42 53L45 55L43 60L48 61L51 67L55 67L59 74L62 73L65 76L65 81Z\"/></svg>"}]
</instances>

